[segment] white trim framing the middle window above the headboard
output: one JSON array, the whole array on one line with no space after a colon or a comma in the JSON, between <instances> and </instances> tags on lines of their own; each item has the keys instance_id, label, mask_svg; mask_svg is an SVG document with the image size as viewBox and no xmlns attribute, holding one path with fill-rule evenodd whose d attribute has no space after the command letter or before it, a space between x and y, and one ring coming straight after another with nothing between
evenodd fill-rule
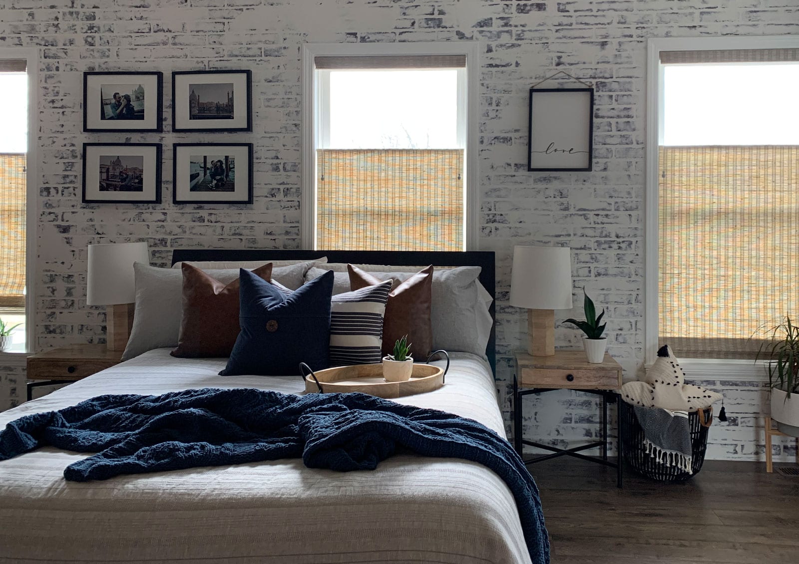
<instances>
[{"instance_id":1,"label":"white trim framing the middle window above the headboard","mask_svg":"<svg viewBox=\"0 0 799 564\"><path fill-rule=\"evenodd\" d=\"M300 197L302 248L316 245L316 84L313 59L317 56L363 55L466 55L466 216L464 241L467 250L479 248L479 42L407 43L304 43L302 46L302 195Z\"/></svg>"}]
</instances>

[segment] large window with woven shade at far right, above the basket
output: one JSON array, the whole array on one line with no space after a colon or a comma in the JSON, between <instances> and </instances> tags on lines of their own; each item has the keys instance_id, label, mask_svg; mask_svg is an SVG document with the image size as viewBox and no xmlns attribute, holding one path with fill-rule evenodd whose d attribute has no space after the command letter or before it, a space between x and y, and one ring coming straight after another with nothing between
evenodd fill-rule
<instances>
[{"instance_id":1,"label":"large window with woven shade at far right, above the basket","mask_svg":"<svg viewBox=\"0 0 799 564\"><path fill-rule=\"evenodd\" d=\"M665 48L656 66L649 359L753 359L764 324L799 315L799 49Z\"/></svg>"}]
</instances>

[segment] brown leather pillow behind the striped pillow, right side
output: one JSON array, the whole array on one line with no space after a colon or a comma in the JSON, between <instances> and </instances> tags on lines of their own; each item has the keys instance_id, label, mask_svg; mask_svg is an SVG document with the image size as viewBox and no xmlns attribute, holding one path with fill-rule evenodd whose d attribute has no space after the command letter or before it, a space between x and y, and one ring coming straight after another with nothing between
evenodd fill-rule
<instances>
[{"instance_id":1,"label":"brown leather pillow behind the striped pillow, right side","mask_svg":"<svg viewBox=\"0 0 799 564\"><path fill-rule=\"evenodd\" d=\"M380 284L380 280L352 264L347 265L350 288L360 290L366 286ZM413 276L396 283L388 294L386 315L383 321L383 354L390 355L396 340L407 335L412 344L411 355L417 362L424 362L433 347L431 308L433 303L433 267L428 266Z\"/></svg>"}]
</instances>

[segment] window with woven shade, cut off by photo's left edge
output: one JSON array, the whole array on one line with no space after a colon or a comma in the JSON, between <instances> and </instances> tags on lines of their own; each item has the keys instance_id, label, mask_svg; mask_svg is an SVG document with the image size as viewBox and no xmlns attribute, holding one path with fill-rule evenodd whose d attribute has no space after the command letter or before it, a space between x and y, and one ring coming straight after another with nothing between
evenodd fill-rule
<instances>
[{"instance_id":1,"label":"window with woven shade, cut off by photo's left edge","mask_svg":"<svg viewBox=\"0 0 799 564\"><path fill-rule=\"evenodd\" d=\"M0 59L0 318L11 325L12 350L26 346L28 76L25 59Z\"/></svg>"}]
</instances>

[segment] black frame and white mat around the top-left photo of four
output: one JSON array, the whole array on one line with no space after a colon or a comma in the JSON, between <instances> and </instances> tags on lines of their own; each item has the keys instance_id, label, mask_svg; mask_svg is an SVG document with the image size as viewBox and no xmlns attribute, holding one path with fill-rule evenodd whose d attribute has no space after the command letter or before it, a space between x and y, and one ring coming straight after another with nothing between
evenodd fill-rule
<instances>
[{"instance_id":1,"label":"black frame and white mat around the top-left photo of four","mask_svg":"<svg viewBox=\"0 0 799 564\"><path fill-rule=\"evenodd\" d=\"M161 73L87 73L85 77L85 108L84 129L85 130L139 130L139 131L160 131L161 112ZM101 119L102 112L102 89L111 90L114 85L141 85L145 90L143 120L113 120ZM117 91L117 90L114 90Z\"/></svg>"}]
</instances>

